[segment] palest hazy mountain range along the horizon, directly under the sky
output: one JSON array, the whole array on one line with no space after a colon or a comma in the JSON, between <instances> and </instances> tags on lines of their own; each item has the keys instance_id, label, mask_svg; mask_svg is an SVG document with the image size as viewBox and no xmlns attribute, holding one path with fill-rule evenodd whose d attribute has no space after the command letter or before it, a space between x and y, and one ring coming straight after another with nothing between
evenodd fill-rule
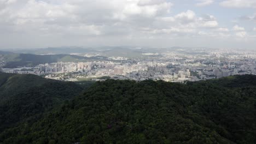
<instances>
[{"instance_id":1,"label":"palest hazy mountain range along the horizon, directly under the sky","mask_svg":"<svg viewBox=\"0 0 256 144\"><path fill-rule=\"evenodd\" d=\"M201 53L200 50L203 48L197 48L197 53ZM169 47L169 48L144 48L144 47L129 47L129 46L105 46L105 47L95 47L95 48L83 48L83 47L48 47L42 49L15 49L7 50L8 53L24 53L33 55L78 55L84 56L89 55L100 55L106 57L142 57L143 53L166 53L178 51L182 53L195 53L194 49L188 47ZM2 52L3 53L3 52ZM0 52L1 54L1 52Z\"/></svg>"}]
</instances>

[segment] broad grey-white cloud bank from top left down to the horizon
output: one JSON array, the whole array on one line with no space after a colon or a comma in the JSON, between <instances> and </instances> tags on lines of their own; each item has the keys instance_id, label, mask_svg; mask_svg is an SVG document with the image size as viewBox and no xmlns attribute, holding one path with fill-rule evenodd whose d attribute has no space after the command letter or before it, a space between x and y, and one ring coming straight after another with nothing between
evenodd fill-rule
<instances>
[{"instance_id":1,"label":"broad grey-white cloud bank from top left down to the horizon","mask_svg":"<svg viewBox=\"0 0 256 144\"><path fill-rule=\"evenodd\" d=\"M170 0L0 0L0 39L5 44L0 46L29 46L31 41L38 47L129 45L132 40L149 45L149 38L161 45L157 40L246 35L245 28L230 32L232 27L220 26L223 22L213 15L189 9L176 13L173 7Z\"/></svg>"}]
</instances>

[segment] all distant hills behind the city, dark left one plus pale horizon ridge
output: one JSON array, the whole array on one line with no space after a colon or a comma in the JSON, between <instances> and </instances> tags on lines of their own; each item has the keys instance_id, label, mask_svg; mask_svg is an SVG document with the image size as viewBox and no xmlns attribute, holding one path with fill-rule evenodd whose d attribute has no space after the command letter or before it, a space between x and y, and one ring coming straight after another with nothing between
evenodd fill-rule
<instances>
[{"instance_id":1,"label":"all distant hills behind the city, dark left one plus pale horizon ridge","mask_svg":"<svg viewBox=\"0 0 256 144\"><path fill-rule=\"evenodd\" d=\"M16 67L32 67L38 64L54 63L54 62L88 62L108 60L107 57L127 57L142 58L150 57L143 53L166 53L177 51L179 53L188 53L201 55L204 51L194 52L190 49L182 47L170 47L168 49L145 49L132 47L98 47L82 48L82 47L49 47L44 49L30 50L10 50L11 52L0 51L0 61L7 64L4 68ZM85 55L94 57L84 57Z\"/></svg>"}]
</instances>

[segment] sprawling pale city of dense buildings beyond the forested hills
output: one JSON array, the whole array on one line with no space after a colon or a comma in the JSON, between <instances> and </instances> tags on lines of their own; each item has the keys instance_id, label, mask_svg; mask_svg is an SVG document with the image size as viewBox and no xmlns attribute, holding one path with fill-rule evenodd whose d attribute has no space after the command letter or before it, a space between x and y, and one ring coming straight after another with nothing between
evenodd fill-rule
<instances>
[{"instance_id":1,"label":"sprawling pale city of dense buildings beyond the forested hills","mask_svg":"<svg viewBox=\"0 0 256 144\"><path fill-rule=\"evenodd\" d=\"M62 81L163 80L199 81L230 75L256 75L256 53L238 50L165 49L140 52L138 56L111 56L104 52L79 53L84 57L104 56L88 62L41 63L32 67L4 68L4 73L35 74ZM74 55L74 54L73 54ZM0 58L1 59L1 58ZM2 58L3 59L3 58Z\"/></svg>"}]
</instances>

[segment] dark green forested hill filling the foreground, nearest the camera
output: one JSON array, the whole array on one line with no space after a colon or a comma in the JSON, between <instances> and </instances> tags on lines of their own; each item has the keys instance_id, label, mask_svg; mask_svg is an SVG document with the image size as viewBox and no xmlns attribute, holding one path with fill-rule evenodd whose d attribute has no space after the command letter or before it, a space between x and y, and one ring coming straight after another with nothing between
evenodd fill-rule
<instances>
[{"instance_id":1,"label":"dark green forested hill filling the foreground, nearest the camera","mask_svg":"<svg viewBox=\"0 0 256 144\"><path fill-rule=\"evenodd\" d=\"M256 143L255 80L96 82L0 143Z\"/></svg>"}]
</instances>

